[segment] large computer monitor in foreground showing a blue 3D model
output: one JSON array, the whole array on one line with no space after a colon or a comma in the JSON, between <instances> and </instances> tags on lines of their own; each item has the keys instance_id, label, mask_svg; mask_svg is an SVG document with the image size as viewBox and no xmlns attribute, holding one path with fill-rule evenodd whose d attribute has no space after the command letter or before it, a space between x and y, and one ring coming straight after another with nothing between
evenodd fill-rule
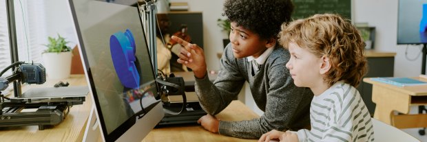
<instances>
[{"instance_id":1,"label":"large computer monitor in foreground showing a blue 3D model","mask_svg":"<svg viewBox=\"0 0 427 142\"><path fill-rule=\"evenodd\" d=\"M164 112L138 8L69 4L103 140L141 141Z\"/></svg>"}]
</instances>

